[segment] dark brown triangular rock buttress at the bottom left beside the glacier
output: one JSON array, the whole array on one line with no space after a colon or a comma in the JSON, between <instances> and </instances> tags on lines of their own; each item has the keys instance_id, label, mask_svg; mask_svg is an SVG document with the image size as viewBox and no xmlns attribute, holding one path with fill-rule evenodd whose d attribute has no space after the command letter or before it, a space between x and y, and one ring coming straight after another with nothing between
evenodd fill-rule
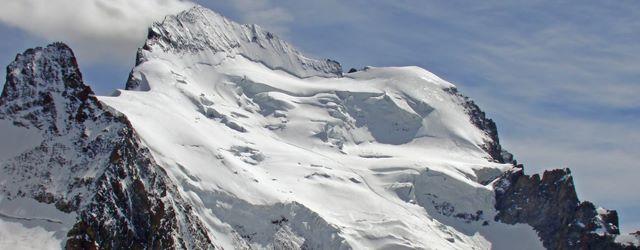
<instances>
[{"instance_id":1,"label":"dark brown triangular rock buttress at the bottom left beside the glacier","mask_svg":"<svg viewBox=\"0 0 640 250\"><path fill-rule=\"evenodd\" d=\"M92 202L68 233L67 249L96 244L104 249L214 248L164 170L132 139L132 130L125 133L94 184Z\"/></svg>"}]
</instances>

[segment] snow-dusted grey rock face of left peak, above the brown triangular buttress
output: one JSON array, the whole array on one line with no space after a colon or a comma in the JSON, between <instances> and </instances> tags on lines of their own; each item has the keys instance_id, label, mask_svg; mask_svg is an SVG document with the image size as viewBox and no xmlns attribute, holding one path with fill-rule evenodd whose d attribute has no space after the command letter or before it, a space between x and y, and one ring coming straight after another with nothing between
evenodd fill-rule
<instances>
[{"instance_id":1,"label":"snow-dusted grey rock face of left peak, above the brown triangular buttress","mask_svg":"<svg viewBox=\"0 0 640 250\"><path fill-rule=\"evenodd\" d=\"M65 212L81 206L86 199L78 190L93 180L87 172L108 154L110 142L105 139L121 128L105 130L114 116L92 95L82 83L73 52L62 43L29 49L9 64L0 119L38 130L43 141L1 163L2 174L12 176L1 190L5 195L28 195ZM97 131L97 136L89 139L88 131ZM6 190L12 187L18 191Z\"/></svg>"}]
</instances>

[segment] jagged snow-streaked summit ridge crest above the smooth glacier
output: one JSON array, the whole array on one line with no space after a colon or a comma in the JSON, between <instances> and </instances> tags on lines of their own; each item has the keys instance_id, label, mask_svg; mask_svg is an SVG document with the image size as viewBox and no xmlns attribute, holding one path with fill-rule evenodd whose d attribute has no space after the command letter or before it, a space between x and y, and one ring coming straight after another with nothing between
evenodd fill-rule
<instances>
[{"instance_id":1,"label":"jagged snow-streaked summit ridge crest above the smooth glacier","mask_svg":"<svg viewBox=\"0 0 640 250\"><path fill-rule=\"evenodd\" d=\"M230 57L242 55L299 77L335 77L342 74L342 68L336 61L306 57L258 25L241 25L201 6L155 23L149 29L145 48L173 52L212 50Z\"/></svg>"}]
</instances>

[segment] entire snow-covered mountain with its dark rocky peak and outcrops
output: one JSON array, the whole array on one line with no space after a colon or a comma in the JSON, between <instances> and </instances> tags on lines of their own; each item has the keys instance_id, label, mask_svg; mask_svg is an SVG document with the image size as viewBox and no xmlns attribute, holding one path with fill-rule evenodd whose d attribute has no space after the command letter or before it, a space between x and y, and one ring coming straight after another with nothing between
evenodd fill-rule
<instances>
[{"instance_id":1,"label":"entire snow-covered mountain with its dark rocky peak and outcrops","mask_svg":"<svg viewBox=\"0 0 640 250\"><path fill-rule=\"evenodd\" d=\"M528 176L417 67L342 73L196 6L125 90L27 50L0 96L0 248L634 249L569 170ZM35 239L35 240L32 240Z\"/></svg>"}]
</instances>

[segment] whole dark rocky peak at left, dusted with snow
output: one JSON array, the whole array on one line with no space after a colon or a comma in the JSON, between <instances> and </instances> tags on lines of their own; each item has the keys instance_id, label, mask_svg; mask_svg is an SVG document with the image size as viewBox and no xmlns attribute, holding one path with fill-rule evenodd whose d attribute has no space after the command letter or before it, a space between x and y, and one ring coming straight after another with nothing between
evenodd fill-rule
<instances>
[{"instance_id":1,"label":"whole dark rocky peak at left, dusted with snow","mask_svg":"<svg viewBox=\"0 0 640 250\"><path fill-rule=\"evenodd\" d=\"M41 138L0 163L3 218L26 227L40 220L67 249L213 246L127 118L83 83L65 44L29 49L7 67L0 120ZM25 199L75 220L60 225L42 211L23 218L31 207L10 208Z\"/></svg>"}]
</instances>

